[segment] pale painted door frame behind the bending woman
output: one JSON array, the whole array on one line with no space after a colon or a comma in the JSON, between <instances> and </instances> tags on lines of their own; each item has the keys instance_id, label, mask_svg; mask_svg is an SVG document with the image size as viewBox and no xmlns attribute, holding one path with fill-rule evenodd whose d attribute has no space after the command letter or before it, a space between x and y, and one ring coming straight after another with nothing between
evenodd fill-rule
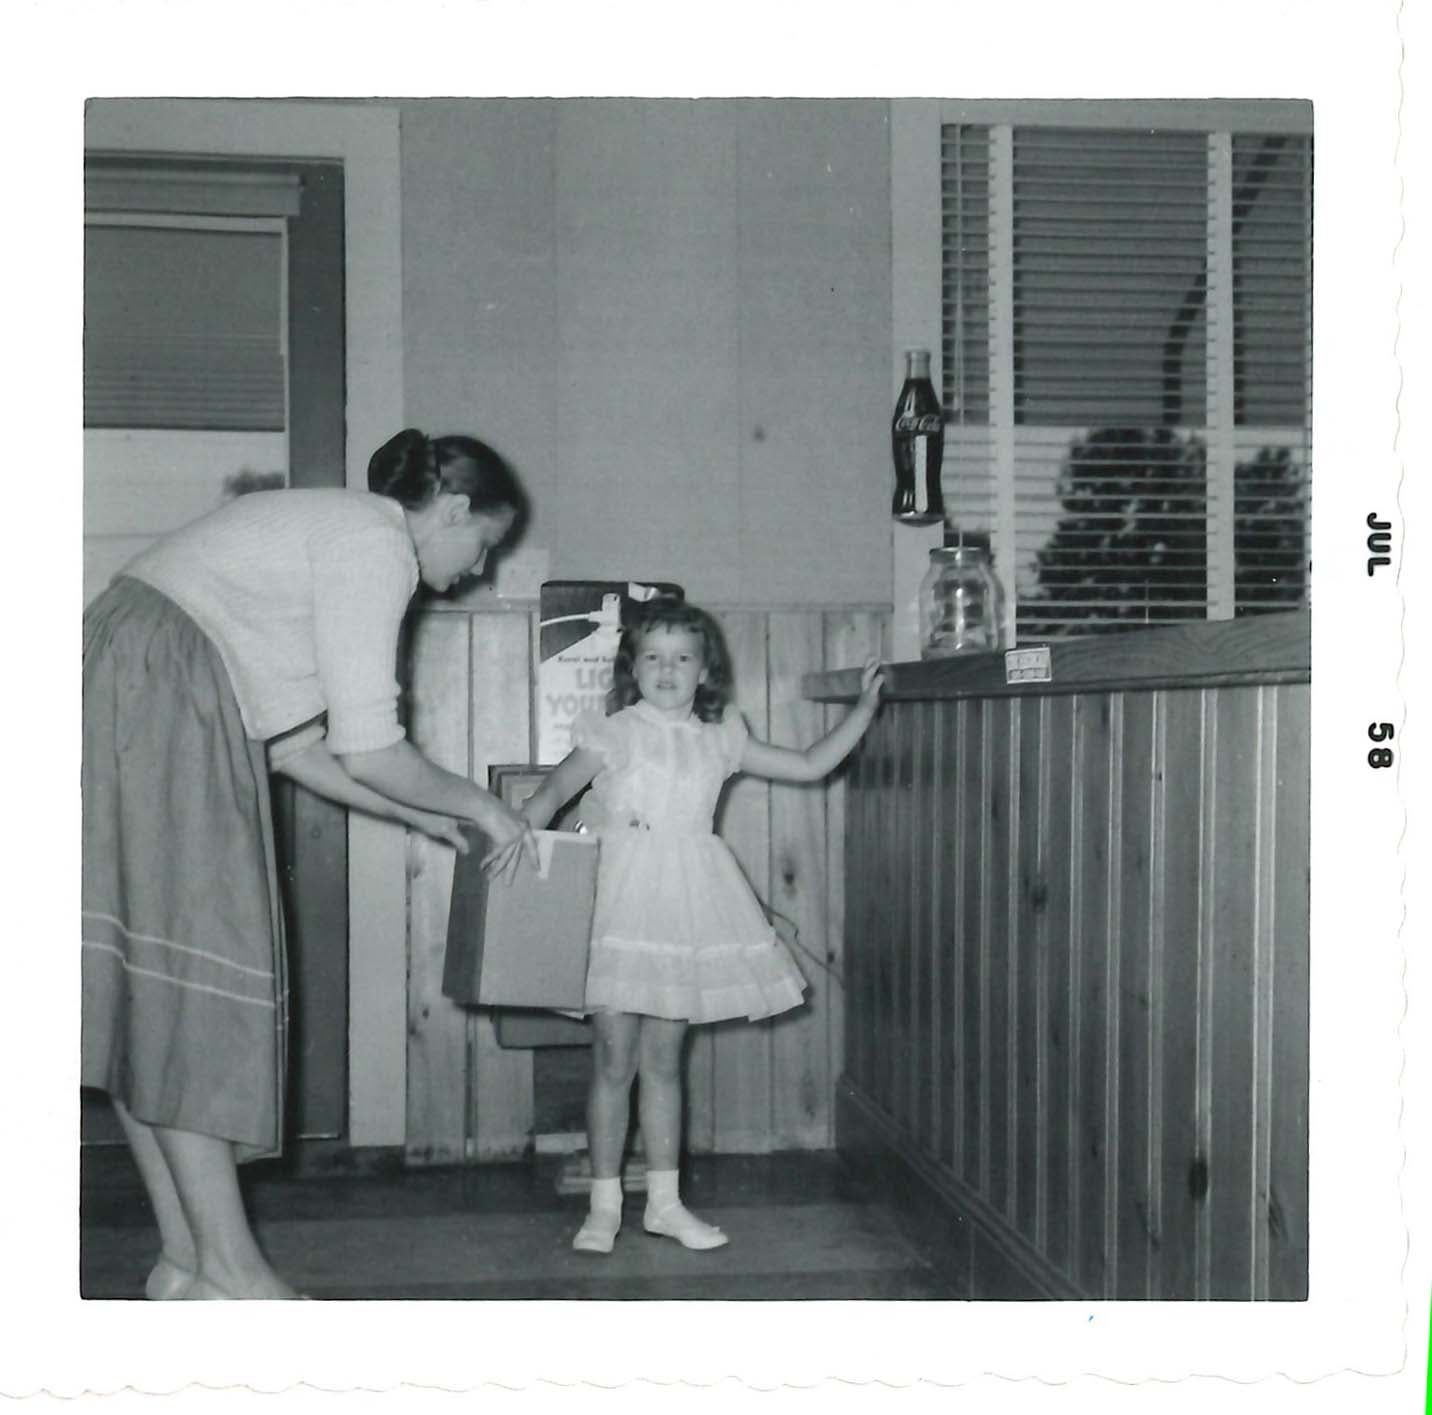
<instances>
[{"instance_id":1,"label":"pale painted door frame behind the bending woman","mask_svg":"<svg viewBox=\"0 0 1432 1415\"><path fill-rule=\"evenodd\" d=\"M404 425L402 183L394 103L93 99L84 146L105 152L338 160L344 166L344 453L367 490L368 455ZM348 1143L401 1146L407 1111L407 874L400 826L348 822Z\"/></svg>"}]
</instances>

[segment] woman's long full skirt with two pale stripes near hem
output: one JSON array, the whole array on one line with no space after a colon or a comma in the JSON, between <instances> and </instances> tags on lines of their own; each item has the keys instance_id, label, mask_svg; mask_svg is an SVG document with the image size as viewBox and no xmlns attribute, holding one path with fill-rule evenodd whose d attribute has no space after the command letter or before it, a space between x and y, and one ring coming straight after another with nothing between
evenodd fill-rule
<instances>
[{"instance_id":1,"label":"woman's long full skirt with two pale stripes near hem","mask_svg":"<svg viewBox=\"0 0 1432 1415\"><path fill-rule=\"evenodd\" d=\"M137 1120L275 1154L288 981L263 743L170 599L84 613L84 1086Z\"/></svg>"}]
</instances>

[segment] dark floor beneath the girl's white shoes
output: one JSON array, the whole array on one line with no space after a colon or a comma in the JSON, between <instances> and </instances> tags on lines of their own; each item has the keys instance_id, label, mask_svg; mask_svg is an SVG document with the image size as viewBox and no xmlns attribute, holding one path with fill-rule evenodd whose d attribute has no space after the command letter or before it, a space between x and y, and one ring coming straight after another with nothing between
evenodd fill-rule
<instances>
[{"instance_id":1,"label":"dark floor beneath the girl's white shoes","mask_svg":"<svg viewBox=\"0 0 1432 1415\"><path fill-rule=\"evenodd\" d=\"M703 1156L683 1197L729 1235L690 1253L642 1232L640 1194L610 1256L571 1250L583 1197L557 1160L294 1177L243 1172L275 1267L318 1299L958 1299L938 1257L833 1153ZM158 1237L122 1147L82 1159L80 1293L139 1298Z\"/></svg>"}]
</instances>

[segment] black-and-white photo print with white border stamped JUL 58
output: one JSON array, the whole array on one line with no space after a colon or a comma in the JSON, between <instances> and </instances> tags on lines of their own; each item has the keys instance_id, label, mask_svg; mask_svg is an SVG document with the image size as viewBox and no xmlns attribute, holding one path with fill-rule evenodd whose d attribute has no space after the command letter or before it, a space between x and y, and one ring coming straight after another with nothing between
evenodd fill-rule
<instances>
[{"instance_id":1,"label":"black-and-white photo print with white border stamped JUL 58","mask_svg":"<svg viewBox=\"0 0 1432 1415\"><path fill-rule=\"evenodd\" d=\"M1426 1366L1405 33L1359 109L1335 11L66 99L26 1162L110 1326L14 1394Z\"/></svg>"}]
</instances>

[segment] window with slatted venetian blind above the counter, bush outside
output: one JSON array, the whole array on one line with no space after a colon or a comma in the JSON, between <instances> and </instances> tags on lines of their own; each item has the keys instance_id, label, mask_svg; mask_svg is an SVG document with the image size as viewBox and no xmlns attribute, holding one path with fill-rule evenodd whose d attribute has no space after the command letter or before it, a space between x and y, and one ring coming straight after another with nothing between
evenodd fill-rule
<instances>
[{"instance_id":1,"label":"window with slatted venetian blind above the counter, bush outside","mask_svg":"<svg viewBox=\"0 0 1432 1415\"><path fill-rule=\"evenodd\" d=\"M945 123L945 503L1021 639L1307 603L1307 130Z\"/></svg>"}]
</instances>

